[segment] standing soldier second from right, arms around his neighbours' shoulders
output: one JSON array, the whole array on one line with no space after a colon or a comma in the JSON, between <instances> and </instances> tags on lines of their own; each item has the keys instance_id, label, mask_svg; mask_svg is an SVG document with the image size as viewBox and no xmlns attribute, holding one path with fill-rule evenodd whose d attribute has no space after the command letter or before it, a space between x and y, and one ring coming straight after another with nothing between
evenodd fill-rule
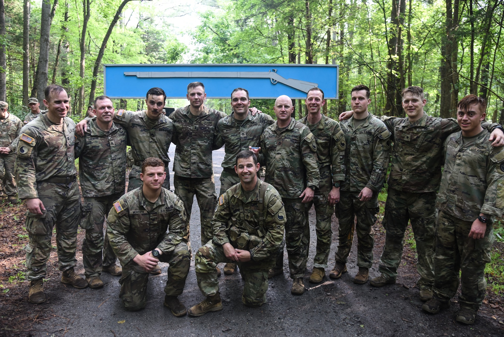
<instances>
[{"instance_id":1,"label":"standing soldier second from right, arms around his neighbours' shoulders","mask_svg":"<svg viewBox=\"0 0 504 337\"><path fill-rule=\"evenodd\" d=\"M394 135L394 147L382 222L386 239L380 258L381 275L369 283L384 286L396 282L409 220L418 256L420 299L428 301L432 298L434 283L434 204L441 179L443 141L460 127L455 119L431 117L424 113L426 100L422 88L410 86L402 91L402 97L407 118L380 117ZM498 126L486 122L483 125L489 128ZM502 134L501 130L495 132L496 136Z\"/></svg>"}]
</instances>

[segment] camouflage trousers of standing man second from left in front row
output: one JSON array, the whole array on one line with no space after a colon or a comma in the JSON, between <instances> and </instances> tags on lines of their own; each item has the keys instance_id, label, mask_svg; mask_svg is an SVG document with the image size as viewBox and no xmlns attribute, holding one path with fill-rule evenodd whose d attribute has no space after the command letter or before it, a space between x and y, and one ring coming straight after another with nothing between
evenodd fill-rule
<instances>
[{"instance_id":1,"label":"camouflage trousers of standing man second from left in front row","mask_svg":"<svg viewBox=\"0 0 504 337\"><path fill-rule=\"evenodd\" d=\"M123 193L116 193L104 197L84 197L81 227L86 230L82 242L82 262L86 277L100 276L102 266L115 264L116 257L108 244L108 236L103 235L103 223L114 201L122 195Z\"/></svg>"}]
</instances>

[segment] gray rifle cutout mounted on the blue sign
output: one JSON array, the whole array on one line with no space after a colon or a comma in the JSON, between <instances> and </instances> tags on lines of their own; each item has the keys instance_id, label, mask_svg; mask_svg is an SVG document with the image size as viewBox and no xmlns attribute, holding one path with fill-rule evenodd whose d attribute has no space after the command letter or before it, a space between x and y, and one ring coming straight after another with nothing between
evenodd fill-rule
<instances>
[{"instance_id":1,"label":"gray rifle cutout mounted on the blue sign","mask_svg":"<svg viewBox=\"0 0 504 337\"><path fill-rule=\"evenodd\" d=\"M313 87L318 87L318 83L301 81L294 78L284 78L277 74L276 69L266 71L126 71L126 76L137 76L138 78L160 78L160 77L236 77L236 78L269 78L271 83L278 82L292 88L308 92Z\"/></svg>"}]
</instances>

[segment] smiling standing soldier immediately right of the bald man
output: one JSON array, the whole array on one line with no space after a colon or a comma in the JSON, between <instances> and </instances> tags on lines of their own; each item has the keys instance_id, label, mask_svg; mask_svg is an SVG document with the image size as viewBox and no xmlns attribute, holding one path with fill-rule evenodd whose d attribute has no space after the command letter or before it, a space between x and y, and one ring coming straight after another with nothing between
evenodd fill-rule
<instances>
[{"instance_id":1,"label":"smiling standing soldier immediately right of the bald man","mask_svg":"<svg viewBox=\"0 0 504 337\"><path fill-rule=\"evenodd\" d=\"M320 88L311 88L306 95L308 115L299 122L308 126L317 141L317 158L319 160L320 183L315 191L313 201L307 205L315 205L317 223L317 253L313 258L313 272L309 281L322 282L326 275L327 260L331 249L331 217L334 205L340 201L340 184L345 180L345 138L340 124L324 116L320 110L324 106L324 92Z\"/></svg>"}]
</instances>

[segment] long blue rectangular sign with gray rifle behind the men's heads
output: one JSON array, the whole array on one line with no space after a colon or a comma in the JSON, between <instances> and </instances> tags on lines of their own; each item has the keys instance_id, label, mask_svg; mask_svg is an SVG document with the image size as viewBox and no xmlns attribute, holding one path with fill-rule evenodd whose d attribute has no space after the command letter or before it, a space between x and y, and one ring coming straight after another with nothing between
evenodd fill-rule
<instances>
[{"instance_id":1,"label":"long blue rectangular sign with gray rifle behind the men's heads","mask_svg":"<svg viewBox=\"0 0 504 337\"><path fill-rule=\"evenodd\" d=\"M338 99L339 66L326 64L106 64L104 94L113 99L142 99L160 87L169 99L185 99L187 84L202 82L209 99L228 99L237 87L251 99L288 95L305 99L312 87L326 99Z\"/></svg>"}]
</instances>

